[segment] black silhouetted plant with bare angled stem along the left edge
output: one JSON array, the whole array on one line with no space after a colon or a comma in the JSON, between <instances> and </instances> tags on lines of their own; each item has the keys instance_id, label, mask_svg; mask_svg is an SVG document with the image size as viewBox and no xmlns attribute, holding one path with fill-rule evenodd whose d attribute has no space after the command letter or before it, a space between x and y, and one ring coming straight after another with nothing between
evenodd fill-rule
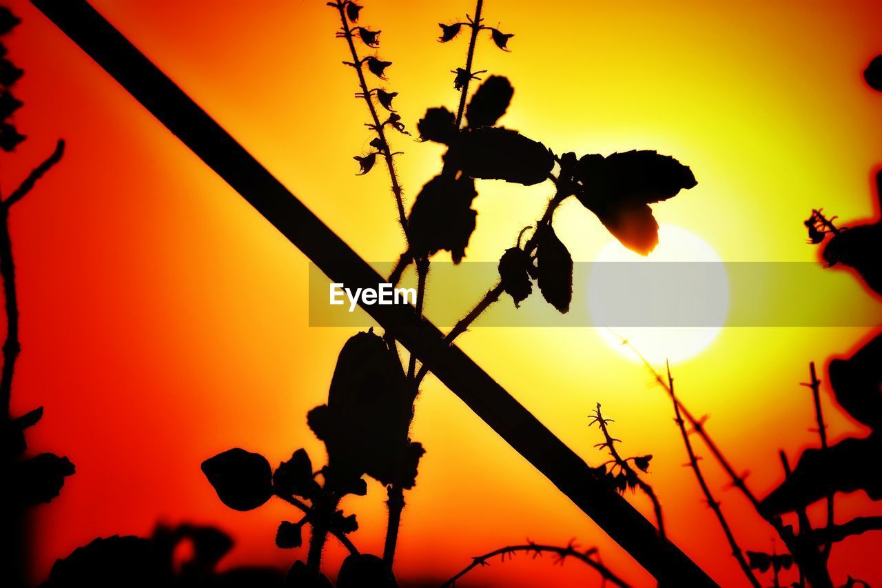
<instances>
[{"instance_id":1,"label":"black silhouetted plant with bare angled stem along the left edge","mask_svg":"<svg viewBox=\"0 0 882 588\"><path fill-rule=\"evenodd\" d=\"M0 6L0 36L9 34L20 20ZM11 120L23 104L12 94L12 87L24 73L6 57L6 46L0 42L0 149L11 153L25 140ZM15 260L12 255L10 213L12 207L30 192L37 181L64 154L64 141L59 140L55 151L46 161L34 168L10 194L0 200L0 277L3 280L6 337L3 345L3 371L0 373L0 475L4 482L0 490L0 528L3 529L4 560L0 562L0 577L9 585L22 582L21 550L25 541L23 532L24 509L52 501L64 486L64 478L74 472L67 457L51 453L25 457L26 429L36 425L43 416L43 407L12 418L10 399L16 360L19 358L19 298L16 288Z\"/></svg>"}]
</instances>

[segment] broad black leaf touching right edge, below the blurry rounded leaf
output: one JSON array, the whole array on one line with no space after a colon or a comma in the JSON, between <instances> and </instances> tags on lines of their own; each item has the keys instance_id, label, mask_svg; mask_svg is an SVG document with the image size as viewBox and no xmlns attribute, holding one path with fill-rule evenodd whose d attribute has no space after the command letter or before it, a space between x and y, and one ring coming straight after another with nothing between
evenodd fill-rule
<instances>
[{"instance_id":1,"label":"broad black leaf touching right edge, below the blurry rounded leaf","mask_svg":"<svg viewBox=\"0 0 882 588\"><path fill-rule=\"evenodd\" d=\"M848 438L828 449L806 449L788 479L761 502L769 514L800 509L833 492L863 489L874 501L882 500L878 475L882 438Z\"/></svg>"}]
</instances>

